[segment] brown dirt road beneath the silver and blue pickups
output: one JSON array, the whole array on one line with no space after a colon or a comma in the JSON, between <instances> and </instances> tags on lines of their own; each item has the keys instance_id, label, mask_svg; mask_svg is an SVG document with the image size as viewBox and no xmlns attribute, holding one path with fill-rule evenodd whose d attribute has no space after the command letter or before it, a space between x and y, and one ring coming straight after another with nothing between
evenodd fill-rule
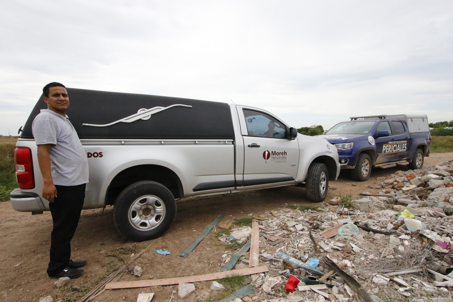
<instances>
[{"instance_id":1,"label":"brown dirt road beneath the silver and blue pickups","mask_svg":"<svg viewBox=\"0 0 453 302\"><path fill-rule=\"evenodd\" d=\"M425 166L434 165L451 159L453 153L433 153L425 158ZM352 194L358 197L363 191L376 192L367 188L374 184L377 177L387 176L405 167L390 169L374 169L371 178L366 182L354 182L347 172L342 172L336 182L330 182L331 187L326 200L338 196ZM353 186L355 184L356 186ZM46 274L50 232L52 219L50 212L43 215L31 216L30 213L20 213L11 209L9 202L0 203L0 300L1 301L38 301L40 297L51 295L54 301L76 301L82 296L81 292L71 292L72 284L79 286L82 291L91 284L97 283L102 276L110 273L120 265L117 257L125 259L134 252L136 247L144 247L153 242L140 259L143 275L140 278L124 275L121 279L133 281L154 278L173 278L203 273L214 273L220 270L221 256L227 247L215 240L209 234L187 258L178 257L218 215L224 214L222 222L233 218L269 215L275 208L287 207L293 204L313 204L305 198L305 189L299 187L279 187L254 192L198 197L178 202L178 214L170 230L162 237L153 241L134 244L125 240L115 229L112 220L112 206L102 209L84 210L76 234L72 240L72 259L88 260L82 278L73 279L67 286L57 289L53 286L54 279ZM323 203L316 204L323 206ZM167 249L172 254L159 255L154 249ZM211 261L211 267L208 269ZM211 282L199 282L195 286L197 295L208 295ZM109 290L103 292L93 301L136 301L140 292L155 292L153 302L168 302L177 286L162 286L153 288L135 288L124 290ZM176 296L174 301L180 301ZM192 294L184 299L187 302L197 301Z\"/></svg>"}]
</instances>

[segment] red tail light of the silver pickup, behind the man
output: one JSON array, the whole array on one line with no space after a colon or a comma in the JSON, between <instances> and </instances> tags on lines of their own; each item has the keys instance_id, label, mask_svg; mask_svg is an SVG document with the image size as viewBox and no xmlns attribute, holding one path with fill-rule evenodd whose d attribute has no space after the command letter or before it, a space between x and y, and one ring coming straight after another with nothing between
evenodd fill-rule
<instances>
[{"instance_id":1,"label":"red tail light of the silver pickup, behind the man","mask_svg":"<svg viewBox=\"0 0 453 302\"><path fill-rule=\"evenodd\" d=\"M16 148L14 152L16 162L16 178L19 188L30 190L34 188L33 161L29 148Z\"/></svg>"}]
</instances>

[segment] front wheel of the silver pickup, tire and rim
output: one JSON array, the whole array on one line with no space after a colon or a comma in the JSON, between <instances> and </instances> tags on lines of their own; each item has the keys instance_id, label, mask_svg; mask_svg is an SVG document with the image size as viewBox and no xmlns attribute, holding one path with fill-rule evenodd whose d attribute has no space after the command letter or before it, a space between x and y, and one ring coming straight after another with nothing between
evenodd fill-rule
<instances>
[{"instance_id":1,"label":"front wheel of the silver pickup, tire and rim","mask_svg":"<svg viewBox=\"0 0 453 302\"><path fill-rule=\"evenodd\" d=\"M321 202L327 196L329 171L323 163L312 163L308 168L305 190L309 201Z\"/></svg>"}]
</instances>

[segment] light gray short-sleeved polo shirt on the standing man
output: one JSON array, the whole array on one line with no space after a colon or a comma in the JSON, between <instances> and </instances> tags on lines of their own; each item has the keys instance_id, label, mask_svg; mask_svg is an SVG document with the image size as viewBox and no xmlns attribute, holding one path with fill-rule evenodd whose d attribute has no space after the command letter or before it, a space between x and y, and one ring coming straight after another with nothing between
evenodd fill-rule
<instances>
[{"instance_id":1,"label":"light gray short-sleeved polo shirt on the standing man","mask_svg":"<svg viewBox=\"0 0 453 302\"><path fill-rule=\"evenodd\" d=\"M54 185L77 186L88 182L88 159L69 118L41 109L32 124L37 145L52 144L49 151Z\"/></svg>"}]
</instances>

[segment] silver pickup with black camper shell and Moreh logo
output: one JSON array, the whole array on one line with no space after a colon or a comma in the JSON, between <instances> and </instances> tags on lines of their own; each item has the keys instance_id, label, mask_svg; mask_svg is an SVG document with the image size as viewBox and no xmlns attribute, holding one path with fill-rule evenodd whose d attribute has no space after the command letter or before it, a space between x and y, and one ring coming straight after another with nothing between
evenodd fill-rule
<instances>
[{"instance_id":1,"label":"silver pickup with black camper shell and Moreh logo","mask_svg":"<svg viewBox=\"0 0 453 302\"><path fill-rule=\"evenodd\" d=\"M222 102L68 88L72 125L87 153L83 208L114 205L118 231L130 240L163 235L175 199L280 186L305 187L323 201L340 173L337 149L297 133L262 109ZM49 211L31 131L35 105L16 144L19 188L14 210Z\"/></svg>"}]
</instances>

